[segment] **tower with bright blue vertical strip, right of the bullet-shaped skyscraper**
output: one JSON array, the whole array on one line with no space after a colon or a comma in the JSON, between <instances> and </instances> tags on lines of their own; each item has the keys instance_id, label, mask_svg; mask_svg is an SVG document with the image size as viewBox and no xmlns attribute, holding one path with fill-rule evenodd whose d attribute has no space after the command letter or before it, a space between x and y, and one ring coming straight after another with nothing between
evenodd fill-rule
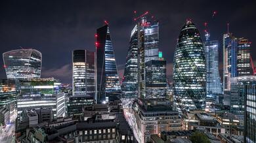
<instances>
[{"instance_id":1,"label":"tower with bright blue vertical strip, right of the bullet-shaped skyscraper","mask_svg":"<svg viewBox=\"0 0 256 143\"><path fill-rule=\"evenodd\" d=\"M248 76L252 74L250 65L251 43L248 39L232 36L232 33L223 35L223 87L230 91L230 78Z\"/></svg>"}]
</instances>

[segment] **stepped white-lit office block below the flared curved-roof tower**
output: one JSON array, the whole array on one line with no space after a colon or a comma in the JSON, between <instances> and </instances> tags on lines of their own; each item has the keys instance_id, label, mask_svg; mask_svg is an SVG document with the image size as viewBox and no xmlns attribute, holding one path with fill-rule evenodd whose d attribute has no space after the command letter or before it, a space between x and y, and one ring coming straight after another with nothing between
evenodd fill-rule
<instances>
[{"instance_id":1,"label":"stepped white-lit office block below the flared curved-roof tower","mask_svg":"<svg viewBox=\"0 0 256 143\"><path fill-rule=\"evenodd\" d=\"M17 97L18 114L24 110L52 108L54 117L65 112L64 93L59 91L60 80L33 78L20 80L20 95Z\"/></svg>"}]
</instances>

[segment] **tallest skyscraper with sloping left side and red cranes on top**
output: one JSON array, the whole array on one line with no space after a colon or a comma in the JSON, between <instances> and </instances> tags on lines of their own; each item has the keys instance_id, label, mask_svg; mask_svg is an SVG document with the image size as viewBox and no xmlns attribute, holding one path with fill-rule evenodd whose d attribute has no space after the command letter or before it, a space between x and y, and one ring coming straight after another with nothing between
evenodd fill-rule
<instances>
[{"instance_id":1,"label":"tallest skyscraper with sloping left side and red cranes on top","mask_svg":"<svg viewBox=\"0 0 256 143\"><path fill-rule=\"evenodd\" d=\"M145 97L145 63L158 60L159 22L148 22L142 16L131 31L129 50L123 76L123 93L126 97Z\"/></svg>"}]
</instances>

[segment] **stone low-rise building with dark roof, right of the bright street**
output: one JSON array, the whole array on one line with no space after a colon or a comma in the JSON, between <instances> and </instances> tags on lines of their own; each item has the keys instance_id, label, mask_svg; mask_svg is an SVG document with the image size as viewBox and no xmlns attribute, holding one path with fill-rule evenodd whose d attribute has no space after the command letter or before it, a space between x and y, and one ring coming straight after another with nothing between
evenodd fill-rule
<instances>
[{"instance_id":1,"label":"stone low-rise building with dark roof, right of the bright street","mask_svg":"<svg viewBox=\"0 0 256 143\"><path fill-rule=\"evenodd\" d=\"M182 130L179 112L173 110L167 99L136 99L133 113L142 142L146 134L160 135L162 131Z\"/></svg>"}]
</instances>

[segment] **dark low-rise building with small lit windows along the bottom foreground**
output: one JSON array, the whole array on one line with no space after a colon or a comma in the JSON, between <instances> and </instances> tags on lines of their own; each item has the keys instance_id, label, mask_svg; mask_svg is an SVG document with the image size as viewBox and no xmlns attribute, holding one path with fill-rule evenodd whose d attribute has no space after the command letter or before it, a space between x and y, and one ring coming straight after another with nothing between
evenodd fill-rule
<instances>
[{"instance_id":1,"label":"dark low-rise building with small lit windows along the bottom foreground","mask_svg":"<svg viewBox=\"0 0 256 143\"><path fill-rule=\"evenodd\" d=\"M87 121L64 121L54 126L38 125L28 132L26 142L111 142L136 143L133 131L123 114L116 119L89 119Z\"/></svg>"}]
</instances>

